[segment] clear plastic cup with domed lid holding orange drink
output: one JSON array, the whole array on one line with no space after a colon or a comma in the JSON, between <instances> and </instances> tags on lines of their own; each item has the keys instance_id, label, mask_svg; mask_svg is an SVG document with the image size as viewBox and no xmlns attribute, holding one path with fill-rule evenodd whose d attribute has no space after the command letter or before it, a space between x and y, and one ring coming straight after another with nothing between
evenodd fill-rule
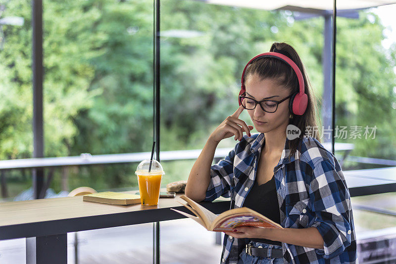
<instances>
[{"instance_id":1,"label":"clear plastic cup with domed lid holding orange drink","mask_svg":"<svg viewBox=\"0 0 396 264\"><path fill-rule=\"evenodd\" d=\"M158 205L159 189L164 170L156 160L151 160L151 170L148 172L150 160L144 160L138 165L135 174L138 176L140 202L142 205Z\"/></svg>"}]
</instances>

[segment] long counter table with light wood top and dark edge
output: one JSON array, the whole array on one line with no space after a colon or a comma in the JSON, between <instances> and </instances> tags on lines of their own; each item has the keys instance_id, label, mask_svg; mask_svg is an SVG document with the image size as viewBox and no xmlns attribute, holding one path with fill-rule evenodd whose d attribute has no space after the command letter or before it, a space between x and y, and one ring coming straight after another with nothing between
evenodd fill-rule
<instances>
[{"instance_id":1,"label":"long counter table with light wood top and dark edge","mask_svg":"<svg viewBox=\"0 0 396 264\"><path fill-rule=\"evenodd\" d=\"M380 178L385 171L376 170L371 173L378 178L362 175L366 170L344 172L351 196L396 191L396 168L387 170L388 178ZM230 200L201 204L220 214L229 209ZM170 208L188 212L173 198L160 198L157 206L106 205L84 202L81 196L0 203L0 240L26 237L27 264L64 264L68 232L185 218Z\"/></svg>"}]
</instances>

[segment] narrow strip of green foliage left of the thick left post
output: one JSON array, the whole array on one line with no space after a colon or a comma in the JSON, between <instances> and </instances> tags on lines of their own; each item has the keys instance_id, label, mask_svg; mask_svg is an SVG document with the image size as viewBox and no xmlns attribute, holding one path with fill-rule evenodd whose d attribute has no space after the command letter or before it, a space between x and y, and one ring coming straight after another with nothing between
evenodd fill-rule
<instances>
[{"instance_id":1,"label":"narrow strip of green foliage left of the thick left post","mask_svg":"<svg viewBox=\"0 0 396 264\"><path fill-rule=\"evenodd\" d=\"M22 27L2 26L5 40L0 50L0 158L31 156L32 94L32 29L27 1L9 1L3 16L25 18Z\"/></svg>"}]
</instances>

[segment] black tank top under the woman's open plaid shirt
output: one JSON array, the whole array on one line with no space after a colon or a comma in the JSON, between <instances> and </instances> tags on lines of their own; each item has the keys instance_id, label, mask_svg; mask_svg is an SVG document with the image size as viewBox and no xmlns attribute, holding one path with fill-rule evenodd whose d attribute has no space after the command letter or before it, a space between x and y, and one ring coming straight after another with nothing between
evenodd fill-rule
<instances>
[{"instance_id":1,"label":"black tank top under the woman's open plaid shirt","mask_svg":"<svg viewBox=\"0 0 396 264\"><path fill-rule=\"evenodd\" d=\"M279 213L278 195L275 187L275 177L272 176L269 181L260 185L258 185L257 179L254 180L253 186L247 194L243 206L246 206L247 208L250 208L280 224L281 217ZM271 245L282 245L279 241L272 241L263 238L251 238L251 240Z\"/></svg>"}]
</instances>

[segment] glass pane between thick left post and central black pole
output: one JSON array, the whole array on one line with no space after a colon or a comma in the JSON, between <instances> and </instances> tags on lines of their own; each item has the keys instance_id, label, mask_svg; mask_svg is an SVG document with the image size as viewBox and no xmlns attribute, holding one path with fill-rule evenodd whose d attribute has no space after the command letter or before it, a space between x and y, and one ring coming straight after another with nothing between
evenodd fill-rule
<instances>
[{"instance_id":1,"label":"glass pane between thick left post and central black pole","mask_svg":"<svg viewBox=\"0 0 396 264\"><path fill-rule=\"evenodd\" d=\"M45 156L150 151L152 2L43 5ZM64 168L51 186L58 191L137 186L136 167Z\"/></svg>"}]
</instances>

